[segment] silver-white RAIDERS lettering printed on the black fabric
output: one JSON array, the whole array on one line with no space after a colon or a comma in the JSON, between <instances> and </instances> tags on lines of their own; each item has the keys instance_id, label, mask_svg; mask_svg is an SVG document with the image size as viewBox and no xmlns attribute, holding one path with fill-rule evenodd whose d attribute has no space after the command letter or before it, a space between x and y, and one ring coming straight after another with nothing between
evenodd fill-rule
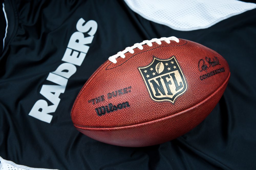
<instances>
[{"instance_id":1,"label":"silver-white RAIDERS lettering printed on the black fabric","mask_svg":"<svg viewBox=\"0 0 256 170\"><path fill-rule=\"evenodd\" d=\"M40 121L50 123L54 113L60 103L60 94L64 93L68 79L81 66L89 50L89 44L92 43L94 34L98 28L94 20L85 21L80 18L76 24L77 31L74 32L68 42L66 51L62 57L61 63L55 71L48 74L46 80L57 85L43 84L40 89L40 98L37 100L28 113ZM54 56L55 57L55 56Z\"/></svg>"}]
</instances>

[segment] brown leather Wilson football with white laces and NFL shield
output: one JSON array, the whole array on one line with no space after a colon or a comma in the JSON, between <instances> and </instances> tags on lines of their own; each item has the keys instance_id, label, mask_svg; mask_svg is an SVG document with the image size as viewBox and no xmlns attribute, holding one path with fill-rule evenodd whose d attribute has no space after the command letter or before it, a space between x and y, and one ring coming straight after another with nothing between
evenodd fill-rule
<instances>
[{"instance_id":1,"label":"brown leather Wilson football with white laces and NFL shield","mask_svg":"<svg viewBox=\"0 0 256 170\"><path fill-rule=\"evenodd\" d=\"M95 140L144 147L175 139L202 122L230 77L227 61L201 44L153 38L109 57L84 84L71 111Z\"/></svg>"}]
</instances>

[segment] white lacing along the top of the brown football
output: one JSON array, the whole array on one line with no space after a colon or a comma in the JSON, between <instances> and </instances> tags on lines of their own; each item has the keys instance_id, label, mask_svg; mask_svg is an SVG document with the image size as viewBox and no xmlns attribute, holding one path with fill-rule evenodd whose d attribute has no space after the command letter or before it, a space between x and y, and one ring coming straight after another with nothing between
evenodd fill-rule
<instances>
[{"instance_id":1,"label":"white lacing along the top of the brown football","mask_svg":"<svg viewBox=\"0 0 256 170\"><path fill-rule=\"evenodd\" d=\"M166 43L170 44L170 40L172 41L176 41L177 43L179 42L179 39L176 38L175 36L171 36L171 37L162 37L162 38L153 38L152 40L145 40L143 41L142 43L135 43L133 46L131 47L126 47L125 50L123 51L119 51L116 55L113 55L111 57L109 57L109 61L111 61L112 63L116 63L116 58L118 57L122 57L122 58L125 58L125 53L129 52L131 54L134 53L134 48L138 48L138 49L143 49L143 46L144 44L147 44L148 46L152 46L152 43L153 42L156 42L157 44L161 45L161 41L165 41Z\"/></svg>"}]
</instances>

